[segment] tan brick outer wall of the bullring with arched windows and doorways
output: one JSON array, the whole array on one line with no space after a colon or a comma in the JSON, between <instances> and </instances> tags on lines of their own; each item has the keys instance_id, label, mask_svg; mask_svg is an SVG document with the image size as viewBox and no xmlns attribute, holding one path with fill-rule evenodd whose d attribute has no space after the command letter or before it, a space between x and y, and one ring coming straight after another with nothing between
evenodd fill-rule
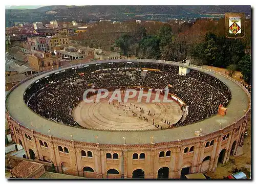
<instances>
[{"instance_id":1,"label":"tan brick outer wall of the bullring with arched windows and doorways","mask_svg":"<svg viewBox=\"0 0 256 184\"><path fill-rule=\"evenodd\" d=\"M133 60L127 61L132 62ZM134 60L134 62L138 61L140 60ZM177 63L171 61L141 61L158 63L162 62L187 67L184 63ZM75 65L69 67L75 67ZM211 71L208 69L206 70L202 67L198 67L195 65L189 67L193 68L194 70L199 70L201 72L222 75L220 73L216 73L215 71ZM64 69L65 68L61 68L61 70ZM26 79L25 81L28 81L35 76L39 76L51 71L36 74ZM201 136L194 135L194 137L190 137L189 139L177 140L174 137L172 139L174 141L168 141L168 139L166 139L166 142L154 142L154 138L151 139L150 137L145 137L144 139L147 141L142 144L129 144L129 141L125 143L120 136L120 144L113 144L111 140L109 143L107 142L107 140L104 143L99 143L101 141L95 138L93 139L93 141L92 138L90 138L90 141L83 142L80 140L77 141L75 139L75 136L68 136L63 139L63 137L61 138L51 135L50 131L48 133L41 133L39 131L35 131L33 130L34 124L39 123L40 121L31 122L31 126L24 125L23 122L19 122L17 117L15 119L11 117L12 112L9 111L8 105L6 107L6 117L10 126L12 139L17 144L22 144L27 153L27 157L31 158L32 150L35 154L36 159L50 160L50 162L54 164L56 171L59 173L67 173L88 178L132 178L133 171L135 171L136 169L142 169L144 171L145 178L158 178L159 169L167 167L168 178L180 178L182 174L182 168L189 168L187 169L187 172L189 172L190 174L214 171L217 168L217 164L219 161L222 163L226 163L229 160L230 154L236 154L238 146L243 145L244 132L248 119L250 117L250 94L248 93L247 89L244 88L243 85L241 85L239 82L231 79L228 76L224 77L226 77L228 80L232 80L233 83L236 83L236 85L239 85L240 88L243 89L242 91L248 97L248 104L246 104L248 108L244 110L243 116L233 122L230 122L227 126L220 127L217 131L205 133ZM18 83L10 90L9 94L6 97L7 101L10 93L12 93L12 91L15 90L15 88L19 85L23 85L25 81ZM232 93L232 89L230 90ZM38 118L41 117L38 116ZM175 129L177 129L178 131L179 128L180 127ZM161 130L159 130L159 132L160 131ZM99 134L99 131L97 133ZM111 134L113 135L115 133L117 132L111 132ZM130 132L127 132L125 135L127 140L129 140L129 133ZM142 132L137 132L137 136L142 136L141 133ZM229 134L228 138L223 140L223 137L226 137L227 134ZM170 136L172 136L172 134L170 134ZM86 137L84 139L86 139ZM108 138L106 137L106 139ZM214 140L214 144L206 147L206 144L211 143L212 140ZM40 146L39 141L42 141L42 143L46 142L48 148L45 145ZM59 151L58 146L61 146L62 148L68 148L69 153L65 153L65 151ZM193 151L189 151L189 149L193 146ZM187 153L184 153L185 148L188 148ZM81 156L81 150L86 151L87 156ZM168 150L170 150L171 154L170 156L165 156L166 151ZM223 150L225 150L225 152ZM88 151L92 152L91 157L88 156ZM159 157L159 154L162 151L164 151L164 156ZM112 158L107 159L106 153L111 153ZM114 153L118 154L118 159L113 159ZM133 159L134 153L138 153L138 155L140 155L140 153L144 153L145 158ZM223 154L220 155L220 153ZM220 159L219 156L221 157ZM203 162L204 158L206 158L206 160ZM84 167L90 167L93 169L94 172L83 171ZM108 170L110 169L117 170L119 174L107 174Z\"/></svg>"}]
</instances>

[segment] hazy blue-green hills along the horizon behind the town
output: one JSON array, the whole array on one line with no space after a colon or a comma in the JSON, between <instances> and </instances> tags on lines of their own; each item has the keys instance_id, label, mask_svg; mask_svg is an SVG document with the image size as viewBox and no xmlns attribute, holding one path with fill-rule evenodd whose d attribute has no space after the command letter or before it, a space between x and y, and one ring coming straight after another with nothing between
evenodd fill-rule
<instances>
[{"instance_id":1,"label":"hazy blue-green hills along the horizon behind the town","mask_svg":"<svg viewBox=\"0 0 256 184\"><path fill-rule=\"evenodd\" d=\"M27 9L10 9L19 7ZM251 15L250 6L42 6L37 9L28 9L35 6L11 6L6 9L6 27L13 22L49 22L60 21L95 21L99 19L112 20L157 20L167 21L168 18L182 17L209 17L211 14L225 12L245 12ZM46 14L54 10L56 14ZM154 16L153 16L154 15ZM156 15L156 16L155 16ZM167 16L166 16L167 15Z\"/></svg>"}]
</instances>

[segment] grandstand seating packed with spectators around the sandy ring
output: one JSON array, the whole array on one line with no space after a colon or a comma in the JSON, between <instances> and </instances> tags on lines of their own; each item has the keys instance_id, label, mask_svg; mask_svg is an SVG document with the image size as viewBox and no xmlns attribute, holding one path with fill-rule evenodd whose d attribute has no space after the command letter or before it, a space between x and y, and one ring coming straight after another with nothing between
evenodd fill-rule
<instances>
[{"instance_id":1,"label":"grandstand seating packed with spectators around the sandy ring","mask_svg":"<svg viewBox=\"0 0 256 184\"><path fill-rule=\"evenodd\" d=\"M160 71L143 71L142 68ZM207 119L217 114L220 104L224 107L229 104L230 90L220 80L196 70L190 70L185 76L179 75L178 71L178 66L142 62L101 63L70 68L33 83L26 90L24 101L42 117L80 128L73 120L71 110L82 99L84 90L91 88L91 84L95 88L164 88L171 84L169 93L182 99L188 107L186 119L177 122L175 127Z\"/></svg>"}]
</instances>

